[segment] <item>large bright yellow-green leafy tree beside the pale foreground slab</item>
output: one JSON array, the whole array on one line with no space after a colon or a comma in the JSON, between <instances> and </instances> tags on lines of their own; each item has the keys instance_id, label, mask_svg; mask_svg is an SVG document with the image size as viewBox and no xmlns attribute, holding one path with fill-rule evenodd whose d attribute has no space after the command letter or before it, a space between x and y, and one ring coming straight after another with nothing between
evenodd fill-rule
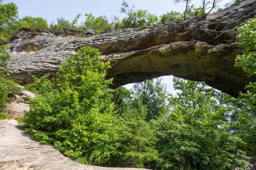
<instances>
[{"instance_id":1,"label":"large bright yellow-green leafy tree beside the pale foreground slab","mask_svg":"<svg viewBox=\"0 0 256 170\"><path fill-rule=\"evenodd\" d=\"M114 109L113 90L108 88L112 79L105 80L109 62L101 63L99 55L95 48L83 47L61 64L57 79L35 78L28 88L41 94L31 99L30 111L21 120L34 139L94 165L109 159L105 145Z\"/></svg>"}]
</instances>

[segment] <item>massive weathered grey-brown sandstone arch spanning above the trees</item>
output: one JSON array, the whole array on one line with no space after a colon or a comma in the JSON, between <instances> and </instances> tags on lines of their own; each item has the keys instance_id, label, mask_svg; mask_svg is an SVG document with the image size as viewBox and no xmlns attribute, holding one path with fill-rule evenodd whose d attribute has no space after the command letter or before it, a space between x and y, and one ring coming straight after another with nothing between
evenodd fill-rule
<instances>
[{"instance_id":1,"label":"massive weathered grey-brown sandstone arch spanning above the trees","mask_svg":"<svg viewBox=\"0 0 256 170\"><path fill-rule=\"evenodd\" d=\"M244 0L217 13L168 25L106 30L91 37L76 37L44 30L22 31L10 41L18 59L14 73L31 82L31 75L55 76L69 55L83 46L99 48L102 61L110 60L113 87L144 79L174 75L206 84L236 96L249 81L234 61L236 29L256 17L256 0Z\"/></svg>"}]
</instances>

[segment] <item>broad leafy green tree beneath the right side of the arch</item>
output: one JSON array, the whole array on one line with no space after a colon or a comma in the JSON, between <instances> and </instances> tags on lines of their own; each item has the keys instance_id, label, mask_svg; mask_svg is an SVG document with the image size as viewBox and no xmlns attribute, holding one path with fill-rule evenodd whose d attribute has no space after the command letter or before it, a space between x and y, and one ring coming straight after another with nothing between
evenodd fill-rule
<instances>
[{"instance_id":1,"label":"broad leafy green tree beneath the right side of the arch","mask_svg":"<svg viewBox=\"0 0 256 170\"><path fill-rule=\"evenodd\" d=\"M247 165L245 142L231 129L229 109L204 83L174 78L172 111L153 121L162 169L226 169ZM240 167L244 168L244 167Z\"/></svg>"}]
</instances>

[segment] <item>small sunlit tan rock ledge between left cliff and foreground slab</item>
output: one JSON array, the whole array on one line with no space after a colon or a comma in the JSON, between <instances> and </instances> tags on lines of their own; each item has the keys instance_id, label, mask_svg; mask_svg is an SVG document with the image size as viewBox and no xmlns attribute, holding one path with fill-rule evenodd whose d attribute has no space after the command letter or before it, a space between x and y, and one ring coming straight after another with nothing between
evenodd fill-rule
<instances>
[{"instance_id":1,"label":"small sunlit tan rock ledge between left cliff and foreground slab","mask_svg":"<svg viewBox=\"0 0 256 170\"><path fill-rule=\"evenodd\" d=\"M32 92L24 90L23 86L20 86L21 90L19 94L8 94L8 97L11 99L7 102L8 106L3 110L11 117L11 119L18 120L20 117L23 117L25 112L29 111L29 97L34 98L36 95Z\"/></svg>"}]
</instances>

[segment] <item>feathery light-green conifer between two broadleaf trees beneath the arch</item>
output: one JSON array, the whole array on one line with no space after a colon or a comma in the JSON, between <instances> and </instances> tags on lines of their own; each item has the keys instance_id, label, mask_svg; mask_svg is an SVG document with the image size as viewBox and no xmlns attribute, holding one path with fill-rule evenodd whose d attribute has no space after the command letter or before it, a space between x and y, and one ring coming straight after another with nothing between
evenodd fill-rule
<instances>
[{"instance_id":1,"label":"feathery light-green conifer between two broadleaf trees beneath the arch","mask_svg":"<svg viewBox=\"0 0 256 170\"><path fill-rule=\"evenodd\" d=\"M113 165L143 168L158 159L154 130L144 120L146 114L147 108L139 102L138 109L127 109L126 114L117 119L114 144L110 146Z\"/></svg>"}]
</instances>

